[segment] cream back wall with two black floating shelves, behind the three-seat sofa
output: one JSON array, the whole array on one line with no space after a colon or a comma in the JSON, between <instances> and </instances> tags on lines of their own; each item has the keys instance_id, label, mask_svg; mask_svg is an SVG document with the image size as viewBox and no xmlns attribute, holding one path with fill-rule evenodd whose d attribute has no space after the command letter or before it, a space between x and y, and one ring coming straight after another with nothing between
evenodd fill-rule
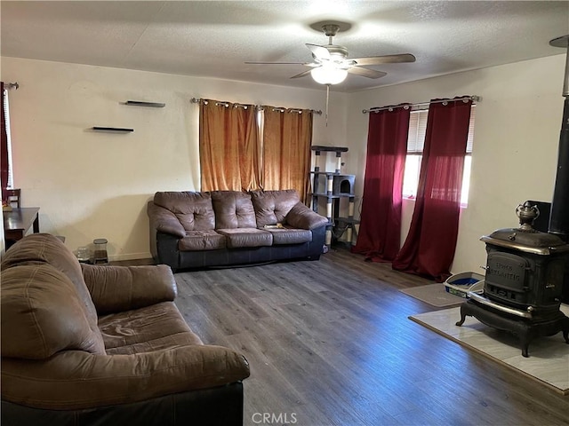
<instances>
[{"instance_id":1,"label":"cream back wall with two black floating shelves, behind the three-seat sofa","mask_svg":"<svg viewBox=\"0 0 569 426\"><path fill-rule=\"evenodd\" d=\"M199 190L198 107L190 99L325 110L325 90L293 89L30 59L2 58L10 92L14 185L40 207L42 232L72 250L108 239L111 259L149 257L147 201L156 191ZM345 145L347 98L331 93L316 145ZM126 100L164 108L124 106ZM92 126L133 128L129 134Z\"/></svg>"}]
</instances>

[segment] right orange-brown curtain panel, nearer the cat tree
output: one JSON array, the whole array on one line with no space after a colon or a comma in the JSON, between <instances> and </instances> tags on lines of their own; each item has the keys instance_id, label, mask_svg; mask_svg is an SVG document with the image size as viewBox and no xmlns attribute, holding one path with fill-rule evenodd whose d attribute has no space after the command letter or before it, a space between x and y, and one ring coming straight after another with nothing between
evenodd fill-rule
<instances>
[{"instance_id":1,"label":"right orange-brown curtain panel, nearer the cat tree","mask_svg":"<svg viewBox=\"0 0 569 426\"><path fill-rule=\"evenodd\" d=\"M309 193L312 111L263 106L263 171L265 190L296 189Z\"/></svg>"}]
</instances>

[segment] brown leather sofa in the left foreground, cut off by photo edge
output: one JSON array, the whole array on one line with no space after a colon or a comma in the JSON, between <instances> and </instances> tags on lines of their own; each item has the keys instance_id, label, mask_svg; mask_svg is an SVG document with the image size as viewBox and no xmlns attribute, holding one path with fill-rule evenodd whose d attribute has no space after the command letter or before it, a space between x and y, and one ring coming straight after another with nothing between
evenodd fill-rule
<instances>
[{"instance_id":1,"label":"brown leather sofa in the left foreground, cut off by photo edge","mask_svg":"<svg viewBox=\"0 0 569 426\"><path fill-rule=\"evenodd\" d=\"M2 424L243 424L243 355L205 345L166 265L79 264L33 234L4 254Z\"/></svg>"}]
</instances>

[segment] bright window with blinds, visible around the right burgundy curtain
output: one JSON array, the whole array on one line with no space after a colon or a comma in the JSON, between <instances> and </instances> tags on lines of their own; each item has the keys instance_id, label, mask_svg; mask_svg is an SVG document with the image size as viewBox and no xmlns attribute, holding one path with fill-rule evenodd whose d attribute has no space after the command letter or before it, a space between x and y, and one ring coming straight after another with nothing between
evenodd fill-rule
<instances>
[{"instance_id":1,"label":"bright window with blinds, visible around the right burgundy curtain","mask_svg":"<svg viewBox=\"0 0 569 426\"><path fill-rule=\"evenodd\" d=\"M476 106L470 111L469 137L466 144L464 157L464 171L462 173L461 204L469 202L470 167L472 163L472 142L474 140L474 117ZM407 156L405 158L405 175L403 177L403 196L414 199L417 196L419 185L419 173L421 172L421 160L423 146L425 145L425 132L427 130L427 116L429 109L420 109L411 112L409 119L409 135L407 137Z\"/></svg>"}]
</instances>

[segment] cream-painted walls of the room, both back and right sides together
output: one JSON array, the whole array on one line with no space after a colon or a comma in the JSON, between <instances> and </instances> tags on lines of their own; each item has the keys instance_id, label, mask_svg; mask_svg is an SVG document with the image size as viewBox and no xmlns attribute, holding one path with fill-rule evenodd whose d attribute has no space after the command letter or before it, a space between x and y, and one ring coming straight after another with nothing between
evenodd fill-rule
<instances>
[{"instance_id":1,"label":"cream-painted walls of the room, both back and right sides together","mask_svg":"<svg viewBox=\"0 0 569 426\"><path fill-rule=\"evenodd\" d=\"M410 65L412 66L412 65ZM113 259L149 255L146 202L156 191L198 190L197 106L192 97L325 110L325 90L239 83L108 67L2 58L10 91L14 180L22 202L39 206L44 232L75 250L106 237ZM328 127L315 119L315 145L349 146L346 173L361 200L368 115L362 109L476 94L469 207L461 217L453 272L485 264L478 238L517 225L514 209L550 201L557 166L565 54L352 94L331 93ZM125 100L164 108L124 106ZM125 135L94 125L132 127ZM413 202L404 205L404 238ZM356 214L358 214L356 212Z\"/></svg>"}]
</instances>

